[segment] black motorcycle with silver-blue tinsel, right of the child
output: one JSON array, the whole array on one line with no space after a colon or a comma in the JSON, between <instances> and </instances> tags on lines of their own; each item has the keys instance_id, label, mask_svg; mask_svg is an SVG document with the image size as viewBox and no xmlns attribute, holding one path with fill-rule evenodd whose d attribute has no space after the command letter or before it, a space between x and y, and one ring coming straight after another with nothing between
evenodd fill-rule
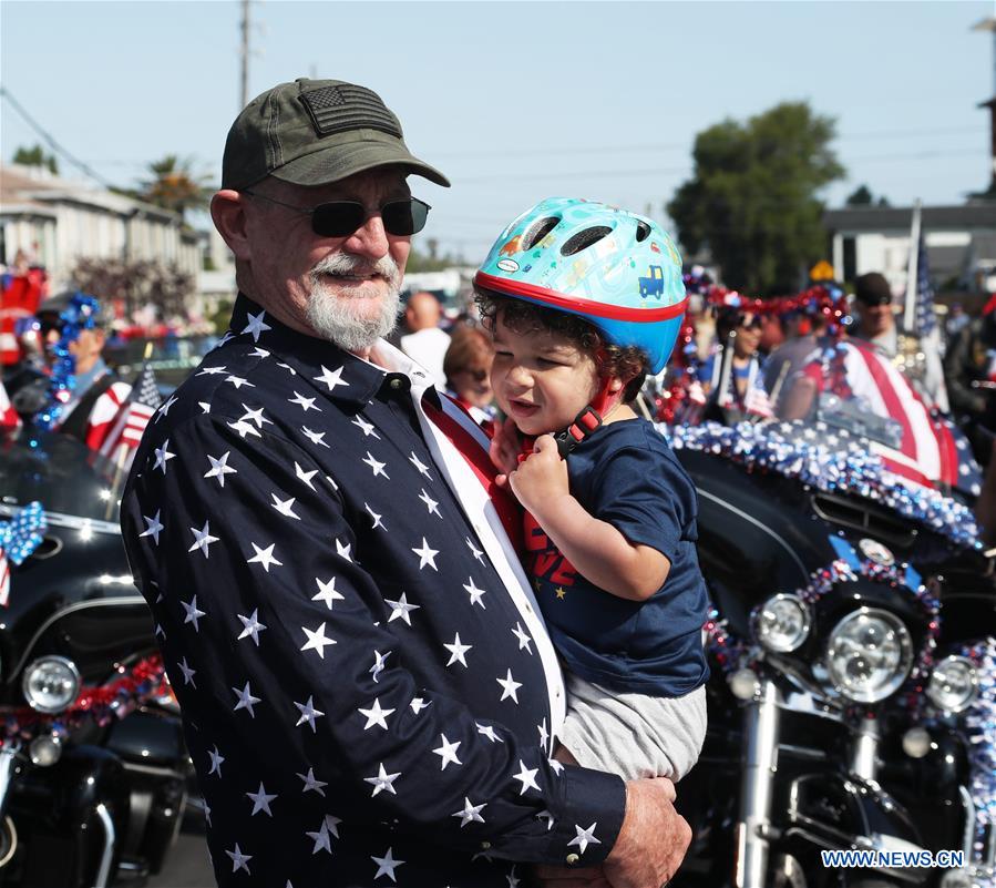
<instances>
[{"instance_id":1,"label":"black motorcycle with silver-blue tinsel, right of the child","mask_svg":"<svg viewBox=\"0 0 996 888\"><path fill-rule=\"evenodd\" d=\"M964 504L882 476L887 420L822 407L661 426L713 604L672 884L993 888L996 551Z\"/></svg>"}]
</instances>

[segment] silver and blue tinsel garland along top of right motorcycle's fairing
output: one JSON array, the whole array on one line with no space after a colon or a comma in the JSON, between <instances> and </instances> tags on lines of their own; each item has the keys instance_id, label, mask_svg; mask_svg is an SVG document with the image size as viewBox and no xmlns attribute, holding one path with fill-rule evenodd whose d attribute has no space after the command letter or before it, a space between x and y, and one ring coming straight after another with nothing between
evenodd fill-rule
<instances>
[{"instance_id":1,"label":"silver and blue tinsel garland along top of right motorcycle's fairing","mask_svg":"<svg viewBox=\"0 0 996 888\"><path fill-rule=\"evenodd\" d=\"M802 422L740 422L733 427L711 421L700 426L659 423L658 429L675 450L713 453L748 471L777 472L818 490L853 493L882 503L958 545L982 548L971 509L936 490L905 483L846 432L834 432L836 445L829 447ZM830 435L828 431L826 437Z\"/></svg>"}]
</instances>

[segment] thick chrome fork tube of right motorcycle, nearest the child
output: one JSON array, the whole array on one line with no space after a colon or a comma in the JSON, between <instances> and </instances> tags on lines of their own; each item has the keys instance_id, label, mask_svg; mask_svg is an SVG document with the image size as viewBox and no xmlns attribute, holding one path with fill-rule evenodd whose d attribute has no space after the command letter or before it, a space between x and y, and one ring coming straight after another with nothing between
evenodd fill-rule
<instances>
[{"instance_id":1,"label":"thick chrome fork tube of right motorcycle, nearest the child","mask_svg":"<svg viewBox=\"0 0 996 888\"><path fill-rule=\"evenodd\" d=\"M771 795L778 770L781 694L773 682L761 681L760 692L745 706L746 749L737 824L737 888L768 888Z\"/></svg>"}]
</instances>

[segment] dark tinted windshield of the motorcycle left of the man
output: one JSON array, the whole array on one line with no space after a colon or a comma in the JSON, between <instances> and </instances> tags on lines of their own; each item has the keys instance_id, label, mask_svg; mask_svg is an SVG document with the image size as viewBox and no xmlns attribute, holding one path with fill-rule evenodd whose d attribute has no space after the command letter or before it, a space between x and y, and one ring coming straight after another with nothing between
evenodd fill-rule
<instances>
[{"instance_id":1,"label":"dark tinted windshield of the motorcycle left of the man","mask_svg":"<svg viewBox=\"0 0 996 888\"><path fill-rule=\"evenodd\" d=\"M126 473L65 435L20 435L0 445L3 511L39 501L50 514L117 522Z\"/></svg>"}]
</instances>

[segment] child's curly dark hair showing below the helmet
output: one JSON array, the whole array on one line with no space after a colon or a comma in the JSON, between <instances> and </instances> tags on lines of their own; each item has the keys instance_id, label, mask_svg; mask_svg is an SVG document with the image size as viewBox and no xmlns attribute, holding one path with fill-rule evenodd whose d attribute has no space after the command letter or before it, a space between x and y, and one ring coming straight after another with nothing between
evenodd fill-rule
<instances>
[{"instance_id":1,"label":"child's curly dark hair showing below the helmet","mask_svg":"<svg viewBox=\"0 0 996 888\"><path fill-rule=\"evenodd\" d=\"M515 333L545 330L568 339L578 350L594 358L600 376L628 380L623 389L625 404L634 400L643 388L650 364L647 353L637 346L613 345L594 324L583 317L484 287L474 287L474 302L489 330L494 330L501 316L502 324Z\"/></svg>"}]
</instances>

